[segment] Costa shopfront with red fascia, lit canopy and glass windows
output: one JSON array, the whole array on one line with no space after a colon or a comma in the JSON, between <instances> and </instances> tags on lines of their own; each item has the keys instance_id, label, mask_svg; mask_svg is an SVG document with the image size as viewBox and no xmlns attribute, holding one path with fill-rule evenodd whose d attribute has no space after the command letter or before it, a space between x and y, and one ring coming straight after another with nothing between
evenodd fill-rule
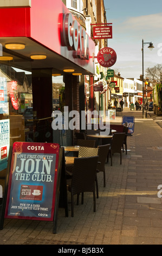
<instances>
[{"instance_id":1,"label":"Costa shopfront with red fascia, lit canopy and glass windows","mask_svg":"<svg viewBox=\"0 0 162 256\"><path fill-rule=\"evenodd\" d=\"M6 126L10 145L25 140L61 144L62 139L62 143L67 142L71 133L57 133L51 129L55 105L53 84L55 88L61 84L57 90L59 106L68 106L69 111L83 110L80 99L84 101L84 81L81 75L95 72L93 40L61 0L1 0L0 27L0 118L1 121L10 120ZM27 72L31 76L28 89L32 92L33 117L28 120L33 119L33 125L32 122L27 126L24 123L26 106L21 107L20 96L24 84L16 79L17 69L24 71L25 77ZM29 93L26 91L26 94Z\"/></svg>"}]
</instances>

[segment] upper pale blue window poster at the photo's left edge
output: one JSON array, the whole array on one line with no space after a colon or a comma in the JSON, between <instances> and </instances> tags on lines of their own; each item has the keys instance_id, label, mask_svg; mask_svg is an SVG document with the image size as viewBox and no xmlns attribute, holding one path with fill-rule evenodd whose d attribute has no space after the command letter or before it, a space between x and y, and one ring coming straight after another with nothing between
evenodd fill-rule
<instances>
[{"instance_id":1,"label":"upper pale blue window poster at the photo's left edge","mask_svg":"<svg viewBox=\"0 0 162 256\"><path fill-rule=\"evenodd\" d=\"M9 114L7 78L0 77L0 114Z\"/></svg>"}]
</instances>

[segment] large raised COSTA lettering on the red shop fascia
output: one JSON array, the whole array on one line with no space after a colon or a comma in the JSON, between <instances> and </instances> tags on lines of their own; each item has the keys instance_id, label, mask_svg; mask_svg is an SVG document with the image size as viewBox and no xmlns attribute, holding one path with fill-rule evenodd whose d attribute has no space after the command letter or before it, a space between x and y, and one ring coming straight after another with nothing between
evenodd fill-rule
<instances>
[{"instance_id":1,"label":"large raised COSTA lettering on the red shop fascia","mask_svg":"<svg viewBox=\"0 0 162 256\"><path fill-rule=\"evenodd\" d=\"M89 59L89 38L86 31L77 25L71 13L64 14L62 28L63 45L74 52L74 58Z\"/></svg>"}]
</instances>

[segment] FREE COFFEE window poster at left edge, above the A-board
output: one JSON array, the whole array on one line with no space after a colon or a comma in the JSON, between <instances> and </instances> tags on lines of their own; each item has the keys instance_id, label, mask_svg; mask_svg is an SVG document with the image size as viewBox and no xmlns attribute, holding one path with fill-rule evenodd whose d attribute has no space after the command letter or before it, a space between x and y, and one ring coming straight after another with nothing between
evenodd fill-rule
<instances>
[{"instance_id":1,"label":"FREE COFFEE window poster at left edge, above the A-board","mask_svg":"<svg viewBox=\"0 0 162 256\"><path fill-rule=\"evenodd\" d=\"M2 119L0 121L0 172L7 168L10 149L10 120Z\"/></svg>"}]
</instances>

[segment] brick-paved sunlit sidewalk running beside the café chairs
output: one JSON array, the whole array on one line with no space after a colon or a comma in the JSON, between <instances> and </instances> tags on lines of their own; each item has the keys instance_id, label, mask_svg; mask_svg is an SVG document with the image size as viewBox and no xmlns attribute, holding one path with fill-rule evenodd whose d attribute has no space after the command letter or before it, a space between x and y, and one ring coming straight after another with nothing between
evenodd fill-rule
<instances>
[{"instance_id":1,"label":"brick-paved sunlit sidewalk running beside the caf\u00e9 chairs","mask_svg":"<svg viewBox=\"0 0 162 256\"><path fill-rule=\"evenodd\" d=\"M64 217L59 209L57 234L53 223L5 219L0 230L1 245L161 245L162 201L162 130L142 111L124 109L123 115L135 117L135 129L128 137L127 155L113 156L113 166L106 164L98 174L99 199L93 212L93 197L85 193L84 205L74 205L74 217ZM115 123L121 124L121 116ZM162 185L161 185L162 187ZM70 194L68 194L70 202Z\"/></svg>"}]
</instances>

